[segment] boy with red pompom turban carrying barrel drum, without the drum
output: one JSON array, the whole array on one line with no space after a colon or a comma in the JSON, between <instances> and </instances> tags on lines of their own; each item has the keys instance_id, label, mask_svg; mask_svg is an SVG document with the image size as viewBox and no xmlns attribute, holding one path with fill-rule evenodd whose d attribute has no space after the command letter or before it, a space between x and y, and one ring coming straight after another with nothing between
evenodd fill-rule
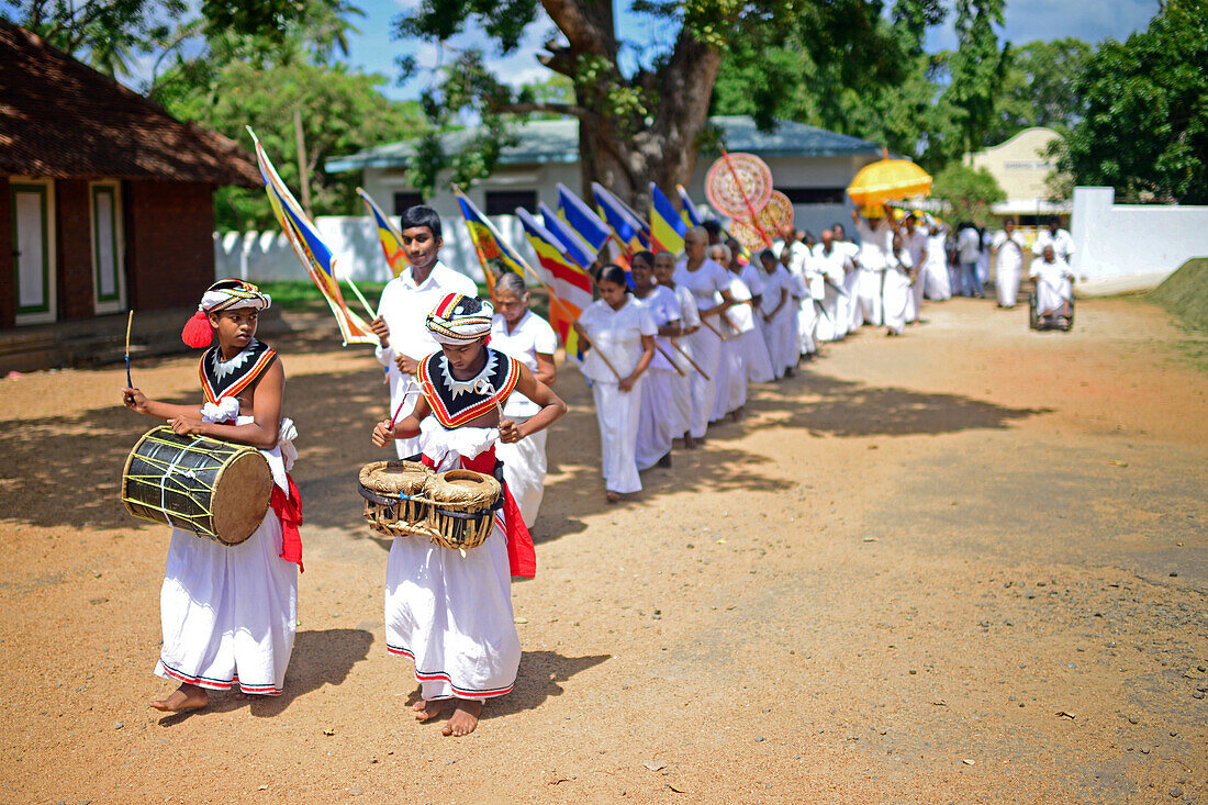
<instances>
[{"instance_id":1,"label":"boy with red pompom turban carrying barrel drum, without the drum","mask_svg":"<svg viewBox=\"0 0 1208 805\"><path fill-rule=\"evenodd\" d=\"M297 457L297 433L281 418L281 361L256 340L257 317L269 303L268 294L239 279L219 280L202 296L181 335L191 347L217 336L201 361L204 405L172 405L122 389L126 407L168 421L178 434L259 448L273 476L271 508L246 540L226 545L173 528L155 673L180 687L151 702L159 711L205 707L209 690L236 685L240 699L280 695L294 650L302 508L288 471Z\"/></svg>"}]
</instances>

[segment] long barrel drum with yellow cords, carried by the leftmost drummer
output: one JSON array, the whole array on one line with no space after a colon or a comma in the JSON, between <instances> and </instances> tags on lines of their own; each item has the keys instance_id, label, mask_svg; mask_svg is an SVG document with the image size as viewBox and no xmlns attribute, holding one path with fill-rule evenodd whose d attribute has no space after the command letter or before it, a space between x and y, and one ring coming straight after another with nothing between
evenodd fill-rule
<instances>
[{"instance_id":1,"label":"long barrel drum with yellow cords, carried by the leftmost drummer","mask_svg":"<svg viewBox=\"0 0 1208 805\"><path fill-rule=\"evenodd\" d=\"M238 545L260 527L273 474L255 447L182 436L168 425L143 434L122 470L122 503L135 517Z\"/></svg>"}]
</instances>

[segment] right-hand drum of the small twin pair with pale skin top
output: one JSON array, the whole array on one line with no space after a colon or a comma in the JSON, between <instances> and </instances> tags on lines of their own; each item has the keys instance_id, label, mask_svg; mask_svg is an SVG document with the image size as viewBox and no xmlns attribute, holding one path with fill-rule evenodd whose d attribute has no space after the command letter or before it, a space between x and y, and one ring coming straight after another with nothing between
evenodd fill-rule
<instances>
[{"instance_id":1,"label":"right-hand drum of the small twin pair with pale skin top","mask_svg":"<svg viewBox=\"0 0 1208 805\"><path fill-rule=\"evenodd\" d=\"M476 548L486 542L504 500L496 479L463 469L430 477L426 494L432 502L428 519L431 540L452 549Z\"/></svg>"}]
</instances>

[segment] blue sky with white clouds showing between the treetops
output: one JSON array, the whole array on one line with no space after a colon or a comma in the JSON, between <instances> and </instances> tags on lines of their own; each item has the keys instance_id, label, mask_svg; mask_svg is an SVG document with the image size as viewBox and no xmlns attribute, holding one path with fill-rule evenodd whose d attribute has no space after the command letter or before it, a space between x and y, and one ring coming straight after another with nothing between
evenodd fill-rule
<instances>
[{"instance_id":1,"label":"blue sky with white clouds showing between the treetops","mask_svg":"<svg viewBox=\"0 0 1208 805\"><path fill-rule=\"evenodd\" d=\"M440 63L442 56L440 48L426 42L396 41L390 36L390 21L400 12L413 8L418 5L418 0L353 0L353 2L365 11L365 17L356 21L361 33L352 36L348 60L365 71L385 75L389 83L383 89L389 97L397 99L418 97L429 82L423 70ZM651 27L649 18L627 13L625 10L628 6L627 0L621 0L618 4L621 8L618 33L622 40L647 46L670 41L673 30ZM1157 7L1157 0L1006 0L1003 36L1014 45L1062 36L1078 36L1088 42L1098 42L1109 36L1122 40L1133 31L1146 28ZM519 51L507 58L492 53L489 41L472 33L461 35L451 44L454 47L484 48L496 71L510 83L521 85L527 81L540 81L548 75L534 57L551 29L551 24L535 23L530 27L527 41ZM928 36L929 50L945 50L954 45L956 37L951 25L940 27ZM407 85L399 87L395 86L397 70L394 59L402 54L417 56L420 73ZM447 53L445 56L448 58ZM629 50L623 56L632 64L638 53L635 50Z\"/></svg>"}]
</instances>

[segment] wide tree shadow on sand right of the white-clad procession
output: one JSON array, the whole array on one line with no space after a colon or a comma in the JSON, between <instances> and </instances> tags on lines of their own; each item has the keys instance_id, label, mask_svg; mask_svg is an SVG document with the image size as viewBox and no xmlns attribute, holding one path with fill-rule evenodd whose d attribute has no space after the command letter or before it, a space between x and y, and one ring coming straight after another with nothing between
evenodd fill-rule
<instances>
[{"instance_id":1,"label":"wide tree shadow on sand right of the white-clad procession","mask_svg":"<svg viewBox=\"0 0 1208 805\"><path fill-rule=\"evenodd\" d=\"M811 370L754 395L748 409L766 415L761 427L800 428L840 438L995 430L1052 412L1015 409L963 394L873 387Z\"/></svg>"}]
</instances>

